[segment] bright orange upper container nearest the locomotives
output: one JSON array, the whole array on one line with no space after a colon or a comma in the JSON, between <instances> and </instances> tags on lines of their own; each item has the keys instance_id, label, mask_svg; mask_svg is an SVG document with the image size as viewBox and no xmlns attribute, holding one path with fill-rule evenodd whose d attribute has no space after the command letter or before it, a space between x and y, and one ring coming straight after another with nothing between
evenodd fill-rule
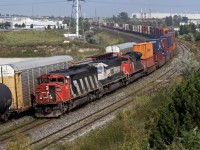
<instances>
[{"instance_id":1,"label":"bright orange upper container nearest the locomotives","mask_svg":"<svg viewBox=\"0 0 200 150\"><path fill-rule=\"evenodd\" d=\"M142 53L141 59L148 59L153 57L153 43L139 43L133 45L134 52Z\"/></svg>"}]
</instances>

